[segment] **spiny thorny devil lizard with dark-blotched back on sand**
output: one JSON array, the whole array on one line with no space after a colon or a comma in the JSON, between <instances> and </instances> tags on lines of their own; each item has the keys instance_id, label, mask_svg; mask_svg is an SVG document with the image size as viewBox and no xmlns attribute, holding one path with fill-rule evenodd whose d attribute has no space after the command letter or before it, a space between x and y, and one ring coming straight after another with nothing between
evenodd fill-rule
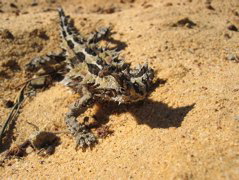
<instances>
[{"instance_id":1,"label":"spiny thorny devil lizard with dark-blotched back on sand","mask_svg":"<svg viewBox=\"0 0 239 180\"><path fill-rule=\"evenodd\" d=\"M129 104L145 99L153 84L154 71L147 64L131 68L119 58L116 49L100 47L99 42L109 34L110 28L101 28L85 38L62 8L58 8L58 13L62 51L32 59L26 64L26 70L51 71L53 65L62 65L62 83L81 94L66 113L65 123L77 147L86 148L97 143L97 138L77 117L95 102Z\"/></svg>"}]
</instances>

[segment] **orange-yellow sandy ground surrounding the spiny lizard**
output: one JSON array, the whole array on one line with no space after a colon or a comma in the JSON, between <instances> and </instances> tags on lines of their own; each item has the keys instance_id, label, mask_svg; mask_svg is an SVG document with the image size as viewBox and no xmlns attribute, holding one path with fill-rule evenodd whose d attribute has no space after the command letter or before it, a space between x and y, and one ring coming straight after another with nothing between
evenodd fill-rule
<instances>
[{"instance_id":1,"label":"orange-yellow sandy ground surrounding the spiny lizard","mask_svg":"<svg viewBox=\"0 0 239 180\"><path fill-rule=\"evenodd\" d=\"M24 65L59 50L59 5L83 34L111 25L126 61L148 62L165 82L143 104L106 104L103 124L113 133L92 150L76 151L59 134L53 155L6 160L1 179L239 179L238 0L0 1L0 124L10 112L4 100L27 80ZM0 158L34 131L27 122L66 130L76 98L55 83L26 100Z\"/></svg>"}]
</instances>

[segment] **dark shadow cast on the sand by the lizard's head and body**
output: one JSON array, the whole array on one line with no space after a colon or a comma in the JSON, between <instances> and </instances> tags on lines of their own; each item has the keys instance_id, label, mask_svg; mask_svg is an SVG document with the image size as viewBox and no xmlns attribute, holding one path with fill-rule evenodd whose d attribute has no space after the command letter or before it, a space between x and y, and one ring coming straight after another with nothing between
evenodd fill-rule
<instances>
[{"instance_id":1,"label":"dark shadow cast on the sand by the lizard's head and body","mask_svg":"<svg viewBox=\"0 0 239 180\"><path fill-rule=\"evenodd\" d=\"M156 82L153 89L165 81ZM182 107L169 107L167 104L146 99L135 104L104 103L95 114L95 118L100 125L109 121L112 114L121 114L130 112L136 119L138 124L146 124L151 128L170 128L180 127L185 116L195 106L195 103Z\"/></svg>"}]
</instances>

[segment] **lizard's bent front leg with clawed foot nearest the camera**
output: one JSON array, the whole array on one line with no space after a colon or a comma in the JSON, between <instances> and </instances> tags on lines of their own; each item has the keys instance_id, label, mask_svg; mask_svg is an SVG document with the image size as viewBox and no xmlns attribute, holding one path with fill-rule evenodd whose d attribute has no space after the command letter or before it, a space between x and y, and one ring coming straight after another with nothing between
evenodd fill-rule
<instances>
[{"instance_id":1,"label":"lizard's bent front leg with clawed foot nearest the camera","mask_svg":"<svg viewBox=\"0 0 239 180\"><path fill-rule=\"evenodd\" d=\"M94 103L91 93L85 87L83 87L82 92L83 96L70 107L65 117L65 123L69 131L76 138L76 148L78 146L85 148L97 142L96 137L87 126L84 123L79 124L77 121L77 117Z\"/></svg>"}]
</instances>

